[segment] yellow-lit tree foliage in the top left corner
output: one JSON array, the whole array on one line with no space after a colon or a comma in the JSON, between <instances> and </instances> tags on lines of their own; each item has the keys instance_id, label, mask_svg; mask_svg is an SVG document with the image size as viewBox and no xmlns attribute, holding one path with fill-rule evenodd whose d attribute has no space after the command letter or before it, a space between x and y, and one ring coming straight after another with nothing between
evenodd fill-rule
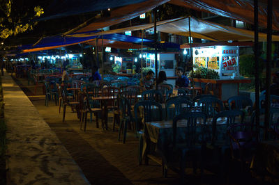
<instances>
[{"instance_id":1,"label":"yellow-lit tree foliage in the top left corner","mask_svg":"<svg viewBox=\"0 0 279 185\"><path fill-rule=\"evenodd\" d=\"M0 38L6 39L27 30L36 24L34 19L43 15L41 6L33 5L33 1L2 0L0 3Z\"/></svg>"}]
</instances>

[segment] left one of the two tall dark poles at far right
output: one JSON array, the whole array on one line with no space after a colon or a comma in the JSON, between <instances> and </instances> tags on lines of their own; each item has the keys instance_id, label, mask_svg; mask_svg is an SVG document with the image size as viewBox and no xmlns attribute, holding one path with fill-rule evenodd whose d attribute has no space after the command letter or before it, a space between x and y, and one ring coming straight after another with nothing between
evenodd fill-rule
<instances>
[{"instance_id":1,"label":"left one of the two tall dark poles at far right","mask_svg":"<svg viewBox=\"0 0 279 185\"><path fill-rule=\"evenodd\" d=\"M254 0L254 57L255 57L255 104L256 104L256 129L259 131L259 20L258 0Z\"/></svg>"}]
</instances>

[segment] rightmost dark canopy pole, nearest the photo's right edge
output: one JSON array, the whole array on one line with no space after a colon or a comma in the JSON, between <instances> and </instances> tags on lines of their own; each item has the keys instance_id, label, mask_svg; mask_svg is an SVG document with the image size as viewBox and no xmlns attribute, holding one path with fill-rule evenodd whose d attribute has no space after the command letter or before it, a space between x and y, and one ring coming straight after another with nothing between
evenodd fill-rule
<instances>
[{"instance_id":1,"label":"rightmost dark canopy pole, nearest the photo's right edge","mask_svg":"<svg viewBox=\"0 0 279 185\"><path fill-rule=\"evenodd\" d=\"M271 84L271 36L272 36L272 0L267 5L267 37L266 37L266 101L264 116L264 139L268 139L270 116L270 84Z\"/></svg>"}]
</instances>

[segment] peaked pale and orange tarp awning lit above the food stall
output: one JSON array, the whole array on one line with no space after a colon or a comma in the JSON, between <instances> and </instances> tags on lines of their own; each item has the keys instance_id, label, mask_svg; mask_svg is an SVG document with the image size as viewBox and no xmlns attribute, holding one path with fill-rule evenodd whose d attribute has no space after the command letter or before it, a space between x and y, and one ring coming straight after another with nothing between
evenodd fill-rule
<instances>
[{"instance_id":1,"label":"peaked pale and orange tarp awning lit above the food stall","mask_svg":"<svg viewBox=\"0 0 279 185\"><path fill-rule=\"evenodd\" d=\"M162 22L157 22L157 31L164 33L172 33L175 35L189 36L188 17L181 17L170 19ZM231 26L223 26L221 24L208 22L202 19L195 19L190 17L191 36L193 38L202 38L212 41L253 41L254 32L245 29L236 29ZM130 26L123 29L115 29L103 32L80 33L72 36L75 37L88 37L92 35L103 35L112 33L123 33L125 31L135 31L140 29L153 29L153 24L144 24L140 26ZM68 35L69 37L71 35ZM259 33L259 41L265 41L266 34ZM279 41L278 35L273 35L273 41Z\"/></svg>"}]
</instances>

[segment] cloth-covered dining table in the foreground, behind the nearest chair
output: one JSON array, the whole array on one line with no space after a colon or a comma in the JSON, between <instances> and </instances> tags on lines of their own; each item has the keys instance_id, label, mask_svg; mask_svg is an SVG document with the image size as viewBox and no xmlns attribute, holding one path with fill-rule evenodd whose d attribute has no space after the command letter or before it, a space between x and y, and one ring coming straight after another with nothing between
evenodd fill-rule
<instances>
[{"instance_id":1,"label":"cloth-covered dining table in the foreground, behind the nearest chair","mask_svg":"<svg viewBox=\"0 0 279 185\"><path fill-rule=\"evenodd\" d=\"M169 161L171 153L169 146L172 145L173 129L172 120L162 120L145 122L144 124L144 142L142 145L142 159L148 163L149 159L156 161L162 165L162 161ZM201 127L202 124L197 123L196 137L197 140L203 137L211 143L212 139L212 118L206 120L206 125ZM186 120L179 120L177 122L177 142L185 140ZM227 136L227 118L218 118L216 122L216 137L218 140L225 140L229 143ZM156 155L154 155L156 154Z\"/></svg>"}]
</instances>

